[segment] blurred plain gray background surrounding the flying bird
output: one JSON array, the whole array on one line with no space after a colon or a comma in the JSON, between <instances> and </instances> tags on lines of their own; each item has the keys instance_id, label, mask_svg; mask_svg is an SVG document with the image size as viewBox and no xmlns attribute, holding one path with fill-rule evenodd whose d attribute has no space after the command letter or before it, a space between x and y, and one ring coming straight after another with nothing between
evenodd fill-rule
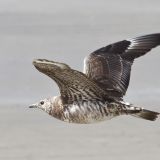
<instances>
[{"instance_id":1,"label":"blurred plain gray background surrounding the flying bird","mask_svg":"<svg viewBox=\"0 0 160 160\"><path fill-rule=\"evenodd\" d=\"M28 109L59 94L33 59L82 71L92 51L156 32L159 0L0 0L0 159L159 160L160 120L122 116L75 125ZM160 47L135 61L127 101L160 112L159 61Z\"/></svg>"}]
</instances>

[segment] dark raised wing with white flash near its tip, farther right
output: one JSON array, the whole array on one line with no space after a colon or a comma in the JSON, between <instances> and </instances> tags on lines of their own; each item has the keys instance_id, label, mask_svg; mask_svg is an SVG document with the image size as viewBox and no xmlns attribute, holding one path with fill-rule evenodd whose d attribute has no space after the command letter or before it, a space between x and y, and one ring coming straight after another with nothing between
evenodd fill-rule
<instances>
[{"instance_id":1,"label":"dark raised wing with white flash near its tip, farther right","mask_svg":"<svg viewBox=\"0 0 160 160\"><path fill-rule=\"evenodd\" d=\"M85 59L84 73L110 95L123 97L129 85L134 59L157 45L160 45L160 33L113 43Z\"/></svg>"}]
</instances>

